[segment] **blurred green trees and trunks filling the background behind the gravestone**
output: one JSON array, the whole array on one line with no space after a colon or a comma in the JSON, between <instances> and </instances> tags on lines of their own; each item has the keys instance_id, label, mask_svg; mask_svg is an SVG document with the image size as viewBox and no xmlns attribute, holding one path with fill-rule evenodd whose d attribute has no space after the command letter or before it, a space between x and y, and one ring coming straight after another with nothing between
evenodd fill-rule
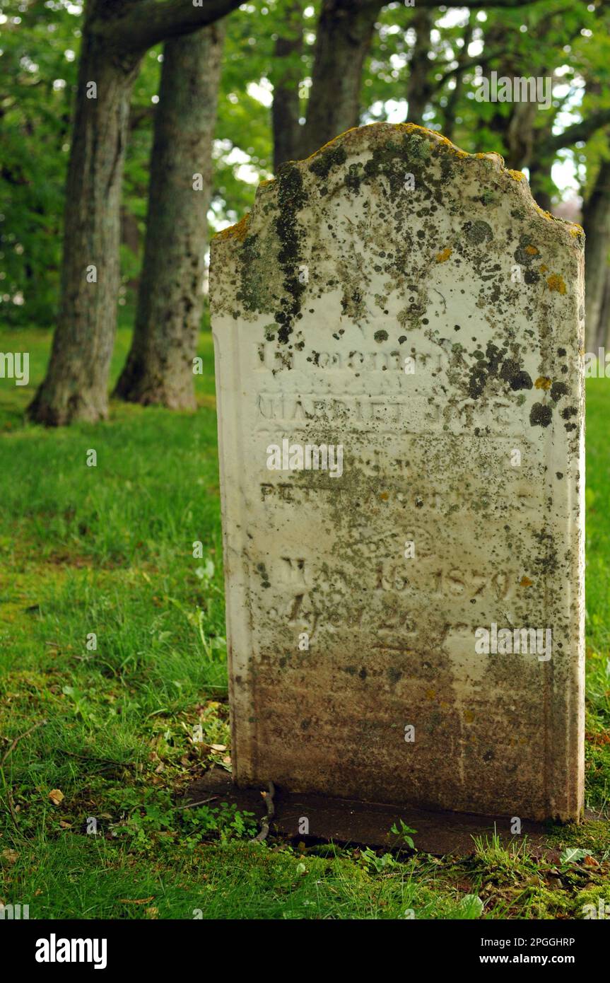
<instances>
[{"instance_id":1,"label":"blurred green trees and trunks filling the background behind the gravestone","mask_svg":"<svg viewBox=\"0 0 610 983\"><path fill-rule=\"evenodd\" d=\"M499 151L582 221L586 347L610 349L609 26L602 0L0 0L0 326L56 328L33 419L105 416L117 303L116 395L193 407L208 229L377 120ZM477 101L491 72L550 77L552 105Z\"/></svg>"}]
</instances>

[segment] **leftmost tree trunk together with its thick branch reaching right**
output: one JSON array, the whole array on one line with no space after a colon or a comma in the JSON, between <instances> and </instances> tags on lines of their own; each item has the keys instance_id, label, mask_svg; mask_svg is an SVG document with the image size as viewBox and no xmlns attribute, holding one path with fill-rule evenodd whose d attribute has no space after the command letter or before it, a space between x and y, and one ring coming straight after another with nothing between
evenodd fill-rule
<instances>
[{"instance_id":1,"label":"leftmost tree trunk together with its thick branch reaching right","mask_svg":"<svg viewBox=\"0 0 610 983\"><path fill-rule=\"evenodd\" d=\"M132 87L144 51L240 0L87 0L66 188L60 317L29 417L61 426L108 412L119 288L120 198Z\"/></svg>"}]
</instances>

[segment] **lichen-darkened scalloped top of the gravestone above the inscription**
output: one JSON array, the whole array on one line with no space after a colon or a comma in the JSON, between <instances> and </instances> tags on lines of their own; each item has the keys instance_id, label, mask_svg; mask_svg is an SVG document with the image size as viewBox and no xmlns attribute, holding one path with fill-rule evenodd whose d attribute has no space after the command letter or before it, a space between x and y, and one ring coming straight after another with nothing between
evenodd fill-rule
<instances>
[{"instance_id":1,"label":"lichen-darkened scalloped top of the gravestone above the inscription","mask_svg":"<svg viewBox=\"0 0 610 983\"><path fill-rule=\"evenodd\" d=\"M511 317L518 292L526 306L544 295L557 314L579 295L583 244L581 226L543 211L500 154L374 123L282 165L251 213L212 239L212 313L263 316L287 341L321 299L360 323L371 298L383 309L402 298L413 329L409 298L425 285L445 295L444 284L476 291L491 320Z\"/></svg>"}]
</instances>

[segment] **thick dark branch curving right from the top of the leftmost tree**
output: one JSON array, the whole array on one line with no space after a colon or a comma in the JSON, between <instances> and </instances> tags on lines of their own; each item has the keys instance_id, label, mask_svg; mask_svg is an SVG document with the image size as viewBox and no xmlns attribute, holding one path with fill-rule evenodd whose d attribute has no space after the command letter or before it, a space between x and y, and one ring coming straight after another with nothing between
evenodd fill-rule
<instances>
[{"instance_id":1,"label":"thick dark branch curving right from the top of the leftmost tree","mask_svg":"<svg viewBox=\"0 0 610 983\"><path fill-rule=\"evenodd\" d=\"M98 19L91 32L117 52L146 51L160 41L205 28L226 17L243 0L141 0L118 17Z\"/></svg>"}]
</instances>

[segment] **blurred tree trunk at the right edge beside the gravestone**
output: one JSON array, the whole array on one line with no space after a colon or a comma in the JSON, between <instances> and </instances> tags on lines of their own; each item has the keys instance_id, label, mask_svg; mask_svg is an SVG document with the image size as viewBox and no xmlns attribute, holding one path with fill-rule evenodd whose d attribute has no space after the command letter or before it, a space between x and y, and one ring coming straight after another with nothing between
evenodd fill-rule
<instances>
[{"instance_id":1,"label":"blurred tree trunk at the right edge beside the gravestone","mask_svg":"<svg viewBox=\"0 0 610 983\"><path fill-rule=\"evenodd\" d=\"M584 268L586 270L587 352L595 349L600 336L601 311L608 272L610 249L610 159L602 160L593 190L582 208L582 225L586 235Z\"/></svg>"}]
</instances>

